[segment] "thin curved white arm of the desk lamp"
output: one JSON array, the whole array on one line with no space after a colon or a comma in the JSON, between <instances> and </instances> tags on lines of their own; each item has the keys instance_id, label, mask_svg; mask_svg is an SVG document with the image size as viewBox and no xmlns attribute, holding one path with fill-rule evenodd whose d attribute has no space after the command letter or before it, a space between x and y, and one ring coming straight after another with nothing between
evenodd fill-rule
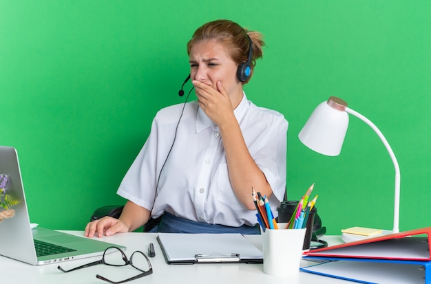
<instances>
[{"instance_id":1,"label":"thin curved white arm of the desk lamp","mask_svg":"<svg viewBox=\"0 0 431 284\"><path fill-rule=\"evenodd\" d=\"M383 144L386 146L386 150L389 152L390 158L392 159L392 163L395 167L394 228L392 229L392 232L399 232L399 193L401 173L399 172L399 165L397 162L397 158L395 157L394 151L392 151L392 148L390 148L390 145L386 138L383 136L383 133L381 133L381 131L375 126L375 124L368 120L368 118L362 116L360 113L357 113L353 109L349 109L348 107L346 107L345 111L353 116L356 116L357 118L368 124L377 133L377 135L379 135L381 142L383 142Z\"/></svg>"}]
</instances>

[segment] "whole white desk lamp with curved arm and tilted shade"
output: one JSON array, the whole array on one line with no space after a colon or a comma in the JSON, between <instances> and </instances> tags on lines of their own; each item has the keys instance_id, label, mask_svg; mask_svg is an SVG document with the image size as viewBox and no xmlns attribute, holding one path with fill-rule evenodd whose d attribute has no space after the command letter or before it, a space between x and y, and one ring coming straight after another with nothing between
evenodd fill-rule
<instances>
[{"instance_id":1,"label":"whole white desk lamp with curved arm and tilted shade","mask_svg":"<svg viewBox=\"0 0 431 284\"><path fill-rule=\"evenodd\" d=\"M347 102L341 98L330 97L327 102L322 102L316 107L308 118L306 124L299 132L299 140L308 148L323 155L336 156L341 151L344 136L348 127L348 113L366 122L376 133L386 146L395 167L395 199L394 199L394 227L392 232L399 232L399 186L401 175L394 152L390 148L388 141L381 131L360 113L347 107ZM386 234L392 233L386 231ZM344 241L360 239L351 234L344 234ZM352 237L353 239L349 239Z\"/></svg>"}]
</instances>

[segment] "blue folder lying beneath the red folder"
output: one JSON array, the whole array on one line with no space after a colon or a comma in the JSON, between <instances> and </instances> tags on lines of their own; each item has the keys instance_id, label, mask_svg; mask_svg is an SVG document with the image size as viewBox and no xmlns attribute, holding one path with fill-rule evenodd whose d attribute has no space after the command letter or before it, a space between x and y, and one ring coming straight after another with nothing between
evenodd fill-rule
<instances>
[{"instance_id":1,"label":"blue folder lying beneath the red folder","mask_svg":"<svg viewBox=\"0 0 431 284\"><path fill-rule=\"evenodd\" d=\"M323 257L306 257L305 259L322 262L317 265L302 267L300 268L301 271L348 281L379 284L431 283L431 261Z\"/></svg>"}]
</instances>

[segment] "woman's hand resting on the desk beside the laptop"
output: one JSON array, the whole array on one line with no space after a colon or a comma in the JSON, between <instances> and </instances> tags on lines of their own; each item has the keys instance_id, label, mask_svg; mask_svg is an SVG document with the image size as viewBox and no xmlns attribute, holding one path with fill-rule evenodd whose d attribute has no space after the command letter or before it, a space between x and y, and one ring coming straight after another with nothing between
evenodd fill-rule
<instances>
[{"instance_id":1,"label":"woman's hand resting on the desk beside the laptop","mask_svg":"<svg viewBox=\"0 0 431 284\"><path fill-rule=\"evenodd\" d=\"M96 221L87 223L85 226L85 237L92 238L97 234L97 237L101 238L104 235L109 237L117 232L129 232L129 227L125 222L115 219L113 217L105 216Z\"/></svg>"}]
</instances>

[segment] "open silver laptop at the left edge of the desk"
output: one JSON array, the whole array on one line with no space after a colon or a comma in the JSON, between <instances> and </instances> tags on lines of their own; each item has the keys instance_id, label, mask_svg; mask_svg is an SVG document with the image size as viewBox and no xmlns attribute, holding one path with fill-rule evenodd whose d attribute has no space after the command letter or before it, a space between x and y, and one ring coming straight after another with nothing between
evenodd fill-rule
<instances>
[{"instance_id":1,"label":"open silver laptop at the left edge of the desk","mask_svg":"<svg viewBox=\"0 0 431 284\"><path fill-rule=\"evenodd\" d=\"M109 246L126 249L123 245L78 237L39 226L30 228L17 151L10 146L0 146L0 186L3 186L1 182L6 175L4 188L8 198L19 202L8 206L14 210L14 216L0 222L0 255L32 265L45 265L99 256ZM0 193L3 203L4 197L4 193ZM5 209L0 207L1 210ZM36 252L36 246L40 248L52 245L57 248L45 248Z\"/></svg>"}]
</instances>

